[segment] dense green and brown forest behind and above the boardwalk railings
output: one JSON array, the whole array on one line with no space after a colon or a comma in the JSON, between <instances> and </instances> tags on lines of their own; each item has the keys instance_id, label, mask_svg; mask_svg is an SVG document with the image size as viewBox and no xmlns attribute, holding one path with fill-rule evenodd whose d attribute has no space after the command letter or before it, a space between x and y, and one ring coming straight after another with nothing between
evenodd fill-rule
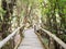
<instances>
[{"instance_id":1,"label":"dense green and brown forest behind and above the boardwalk railings","mask_svg":"<svg viewBox=\"0 0 66 49\"><path fill-rule=\"evenodd\" d=\"M66 0L0 0L0 40L23 24L41 25L66 44Z\"/></svg>"}]
</instances>

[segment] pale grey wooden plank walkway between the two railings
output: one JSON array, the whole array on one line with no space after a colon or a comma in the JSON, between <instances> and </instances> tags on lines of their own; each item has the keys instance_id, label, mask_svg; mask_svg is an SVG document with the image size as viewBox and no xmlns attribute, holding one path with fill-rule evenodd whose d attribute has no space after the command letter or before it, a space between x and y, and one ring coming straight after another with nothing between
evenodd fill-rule
<instances>
[{"instance_id":1,"label":"pale grey wooden plank walkway between the two railings","mask_svg":"<svg viewBox=\"0 0 66 49\"><path fill-rule=\"evenodd\" d=\"M18 49L44 49L34 29L26 29L24 32L24 39Z\"/></svg>"}]
</instances>

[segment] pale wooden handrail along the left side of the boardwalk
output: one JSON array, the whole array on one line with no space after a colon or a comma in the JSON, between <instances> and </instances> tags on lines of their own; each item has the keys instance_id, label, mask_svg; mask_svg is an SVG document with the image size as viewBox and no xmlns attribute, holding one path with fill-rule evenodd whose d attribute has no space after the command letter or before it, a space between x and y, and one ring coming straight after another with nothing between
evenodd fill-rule
<instances>
[{"instance_id":1,"label":"pale wooden handrail along the left side of the boardwalk","mask_svg":"<svg viewBox=\"0 0 66 49\"><path fill-rule=\"evenodd\" d=\"M12 34L10 34L8 37L0 41L0 49L16 34L20 28L21 27L18 27Z\"/></svg>"}]
</instances>

